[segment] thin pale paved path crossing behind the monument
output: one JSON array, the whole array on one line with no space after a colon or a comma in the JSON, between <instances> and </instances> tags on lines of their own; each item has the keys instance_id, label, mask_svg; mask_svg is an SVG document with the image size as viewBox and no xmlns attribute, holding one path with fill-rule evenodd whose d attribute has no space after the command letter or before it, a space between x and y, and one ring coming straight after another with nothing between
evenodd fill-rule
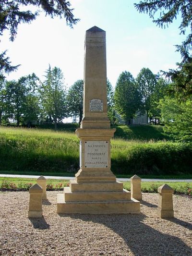
<instances>
[{"instance_id":1,"label":"thin pale paved path crossing behind the monument","mask_svg":"<svg viewBox=\"0 0 192 256\"><path fill-rule=\"evenodd\" d=\"M0 174L0 177L12 177L12 178L35 178L37 179L39 176L37 175L14 175L14 174ZM53 180L72 180L74 177L60 177L60 176L44 176L46 179ZM130 179L127 178L118 178L118 181L122 182L130 182ZM142 179L143 182L188 182L192 183L192 180L173 180L173 179Z\"/></svg>"}]
</instances>

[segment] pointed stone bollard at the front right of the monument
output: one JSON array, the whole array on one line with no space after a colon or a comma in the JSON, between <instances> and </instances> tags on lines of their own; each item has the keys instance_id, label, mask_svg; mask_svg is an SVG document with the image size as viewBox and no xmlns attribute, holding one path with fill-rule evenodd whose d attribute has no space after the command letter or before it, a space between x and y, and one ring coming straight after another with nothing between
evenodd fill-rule
<instances>
[{"instance_id":1,"label":"pointed stone bollard at the front right of the monument","mask_svg":"<svg viewBox=\"0 0 192 256\"><path fill-rule=\"evenodd\" d=\"M172 218L174 217L173 211L173 189L167 184L164 184L158 188L158 208L157 216L160 218Z\"/></svg>"}]
</instances>

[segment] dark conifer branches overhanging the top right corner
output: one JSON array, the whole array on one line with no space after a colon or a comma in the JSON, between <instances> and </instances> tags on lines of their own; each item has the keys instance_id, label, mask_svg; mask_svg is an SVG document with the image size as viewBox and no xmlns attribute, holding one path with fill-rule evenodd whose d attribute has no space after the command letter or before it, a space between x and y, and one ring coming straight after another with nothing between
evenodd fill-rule
<instances>
[{"instance_id":1,"label":"dark conifer branches overhanging the top right corner","mask_svg":"<svg viewBox=\"0 0 192 256\"><path fill-rule=\"evenodd\" d=\"M186 38L181 45L176 45L176 48L180 51L182 61L177 63L178 69L169 70L164 74L173 81L173 92L179 92L180 95L182 93L182 98L187 99L192 95L192 1L144 0L134 5L137 11L148 13L153 22L162 28L181 16L180 34L186 34ZM155 19L155 14L160 16Z\"/></svg>"}]
</instances>

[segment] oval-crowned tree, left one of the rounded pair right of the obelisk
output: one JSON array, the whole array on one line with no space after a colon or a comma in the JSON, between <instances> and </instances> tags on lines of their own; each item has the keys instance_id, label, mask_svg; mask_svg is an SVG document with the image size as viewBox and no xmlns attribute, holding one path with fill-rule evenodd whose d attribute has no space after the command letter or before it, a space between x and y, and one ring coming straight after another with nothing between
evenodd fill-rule
<instances>
[{"instance_id":1,"label":"oval-crowned tree, left one of the rounded pair right of the obelisk","mask_svg":"<svg viewBox=\"0 0 192 256\"><path fill-rule=\"evenodd\" d=\"M130 72L120 74L115 87L115 108L127 124L141 107L137 84Z\"/></svg>"}]
</instances>

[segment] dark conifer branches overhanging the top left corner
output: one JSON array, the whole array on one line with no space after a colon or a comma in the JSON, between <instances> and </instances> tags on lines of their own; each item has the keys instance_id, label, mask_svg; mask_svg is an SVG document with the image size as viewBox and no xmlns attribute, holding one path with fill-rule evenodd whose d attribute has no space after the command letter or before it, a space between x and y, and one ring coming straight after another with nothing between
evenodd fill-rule
<instances>
[{"instance_id":1,"label":"dark conifer branches overhanging the top left corner","mask_svg":"<svg viewBox=\"0 0 192 256\"><path fill-rule=\"evenodd\" d=\"M30 10L24 11L24 7ZM71 3L67 0L1 0L0 1L0 36L5 30L10 32L10 40L17 35L18 25L31 23L43 11L51 18L60 17L66 20L71 28L79 19L74 18ZM6 51L0 54L0 72L9 73L18 68L12 66Z\"/></svg>"}]
</instances>

